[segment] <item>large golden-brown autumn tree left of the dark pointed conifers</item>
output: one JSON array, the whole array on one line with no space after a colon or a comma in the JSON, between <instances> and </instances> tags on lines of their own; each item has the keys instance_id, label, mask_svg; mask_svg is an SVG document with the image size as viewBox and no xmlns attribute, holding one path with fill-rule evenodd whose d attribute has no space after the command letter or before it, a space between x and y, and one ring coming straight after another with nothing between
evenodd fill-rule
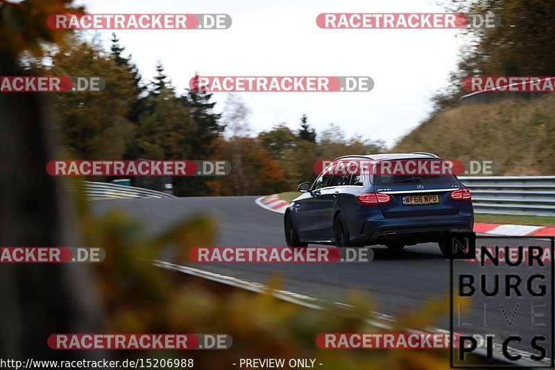
<instances>
[{"instance_id":1,"label":"large golden-brown autumn tree left of the dark pointed conifers","mask_svg":"<svg viewBox=\"0 0 555 370\"><path fill-rule=\"evenodd\" d=\"M131 143L135 127L128 119L137 98L134 75L114 63L100 44L78 36L66 37L66 44L49 51L51 64L33 65L37 73L51 76L101 76L108 88L102 92L56 94L55 128L70 158L122 158Z\"/></svg>"}]
</instances>

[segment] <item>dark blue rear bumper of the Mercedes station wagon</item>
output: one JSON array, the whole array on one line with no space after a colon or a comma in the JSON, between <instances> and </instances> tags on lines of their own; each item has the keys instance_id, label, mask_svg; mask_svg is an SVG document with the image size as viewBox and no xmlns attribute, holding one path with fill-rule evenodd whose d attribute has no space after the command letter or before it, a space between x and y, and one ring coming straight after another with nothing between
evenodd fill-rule
<instances>
[{"instance_id":1,"label":"dark blue rear bumper of the Mercedes station wagon","mask_svg":"<svg viewBox=\"0 0 555 370\"><path fill-rule=\"evenodd\" d=\"M353 245L402 242L406 245L438 242L446 231L472 230L472 213L452 216L407 217L399 219L367 219L357 234L351 234Z\"/></svg>"}]
</instances>

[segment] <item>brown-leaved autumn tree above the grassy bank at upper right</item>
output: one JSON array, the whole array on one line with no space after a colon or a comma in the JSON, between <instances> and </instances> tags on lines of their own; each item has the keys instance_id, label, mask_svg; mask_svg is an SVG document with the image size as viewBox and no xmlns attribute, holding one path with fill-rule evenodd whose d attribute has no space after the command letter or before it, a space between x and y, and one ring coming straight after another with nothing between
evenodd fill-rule
<instances>
[{"instance_id":1,"label":"brown-leaved autumn tree above the grassy bank at upper right","mask_svg":"<svg viewBox=\"0 0 555 370\"><path fill-rule=\"evenodd\" d=\"M436 110L456 106L467 94L467 76L553 76L555 74L555 2L552 0L456 1L447 10L493 13L495 28L465 28L459 63L445 89L434 96Z\"/></svg>"}]
</instances>

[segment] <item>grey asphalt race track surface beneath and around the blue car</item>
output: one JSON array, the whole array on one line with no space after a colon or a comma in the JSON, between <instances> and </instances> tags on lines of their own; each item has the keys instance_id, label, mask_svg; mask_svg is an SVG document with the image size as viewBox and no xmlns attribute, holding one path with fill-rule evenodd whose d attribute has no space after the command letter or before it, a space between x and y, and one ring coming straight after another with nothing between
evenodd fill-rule
<instances>
[{"instance_id":1,"label":"grey asphalt race track surface beneath and around the blue car","mask_svg":"<svg viewBox=\"0 0 555 370\"><path fill-rule=\"evenodd\" d=\"M255 204L256 198L255 196L230 196L118 199L92 201L92 209L95 215L114 209L124 210L133 218L142 221L148 233L159 233L176 221L191 215L211 215L218 225L217 242L212 246L285 246L283 215L260 208ZM420 310L422 305L432 297L448 298L450 262L445 260L437 244L407 246L400 251L391 251L385 246L374 246L372 249L374 259L366 263L191 263L187 265L262 284L268 283L272 276L279 275L284 280L282 289L337 302L345 302L346 294L350 289L360 289L372 298L375 311L393 316L398 316L402 312ZM177 262L172 260L171 251L164 253L160 259ZM548 294L553 292L552 285L549 287ZM549 310L550 298L551 296L546 298L547 310ZM505 309L508 315L513 312L513 306L506 306ZM516 319L511 327L506 326L504 324L506 318L499 311L499 302L495 299L488 301L487 310L491 330L483 333L497 333L502 338L509 333L514 334L515 330L523 338L532 333L529 319ZM529 303L522 301L520 310L519 314L526 313L524 310L529 311ZM476 305L472 308L470 318L474 317L479 321L482 314L483 306ZM434 326L448 330L449 318L447 316L438 318ZM496 328L497 326L500 329ZM496 342L498 340L499 338ZM549 341L549 338L547 340ZM548 342L547 348L550 344ZM522 344L513 342L511 346L537 353L524 339ZM548 357L550 357L549 351Z\"/></svg>"}]
</instances>

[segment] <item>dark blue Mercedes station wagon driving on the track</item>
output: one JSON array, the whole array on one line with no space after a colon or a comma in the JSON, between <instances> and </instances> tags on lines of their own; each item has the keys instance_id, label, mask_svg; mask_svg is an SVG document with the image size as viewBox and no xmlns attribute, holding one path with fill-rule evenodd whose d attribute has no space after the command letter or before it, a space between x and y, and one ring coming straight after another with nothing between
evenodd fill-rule
<instances>
[{"instance_id":1,"label":"dark blue Mercedes station wagon driving on the track","mask_svg":"<svg viewBox=\"0 0 555 370\"><path fill-rule=\"evenodd\" d=\"M401 249L435 242L445 254L445 232L470 231L474 225L468 189L452 171L439 174L373 171L386 162L422 160L445 164L432 153L336 158L314 183L298 186L303 194L289 203L284 215L287 245L382 244ZM347 162L357 171L331 171L336 162Z\"/></svg>"}]
</instances>

